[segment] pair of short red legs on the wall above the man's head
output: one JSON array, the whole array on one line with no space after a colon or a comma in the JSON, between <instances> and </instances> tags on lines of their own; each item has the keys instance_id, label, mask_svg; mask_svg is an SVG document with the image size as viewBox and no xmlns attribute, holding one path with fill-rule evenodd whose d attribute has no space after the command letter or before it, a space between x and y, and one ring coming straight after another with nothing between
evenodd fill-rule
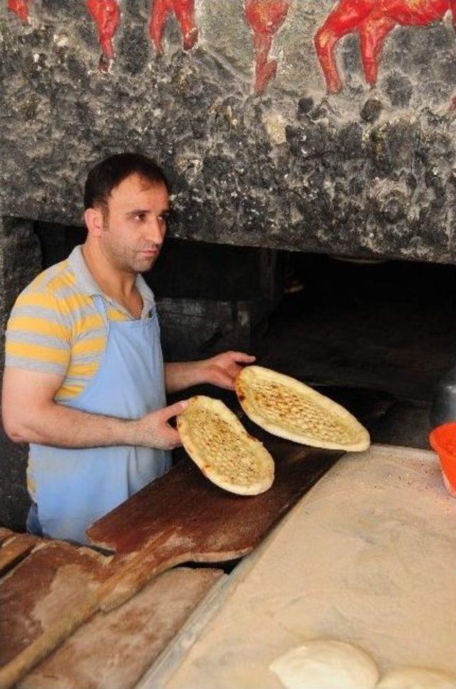
<instances>
[{"instance_id":1,"label":"pair of short red legs on the wall above the man's head","mask_svg":"<svg viewBox=\"0 0 456 689\"><path fill-rule=\"evenodd\" d=\"M182 46L190 50L197 44L198 27L195 21L195 0L152 0L149 34L157 52L162 49L163 31L170 14L175 14L182 31Z\"/></svg>"}]
</instances>

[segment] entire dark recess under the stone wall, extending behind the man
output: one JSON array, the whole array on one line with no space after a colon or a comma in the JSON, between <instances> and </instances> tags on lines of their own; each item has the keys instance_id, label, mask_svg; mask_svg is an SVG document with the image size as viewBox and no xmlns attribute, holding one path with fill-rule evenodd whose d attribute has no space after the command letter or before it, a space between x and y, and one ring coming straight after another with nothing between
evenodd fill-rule
<instances>
[{"instance_id":1,"label":"entire dark recess under the stone wall, extending behind the man","mask_svg":"<svg viewBox=\"0 0 456 689\"><path fill-rule=\"evenodd\" d=\"M83 228L35 229L43 268L85 238ZM167 238L145 279L165 360L252 352L336 401L366 399L373 442L429 447L432 397L456 362L455 266Z\"/></svg>"}]
</instances>

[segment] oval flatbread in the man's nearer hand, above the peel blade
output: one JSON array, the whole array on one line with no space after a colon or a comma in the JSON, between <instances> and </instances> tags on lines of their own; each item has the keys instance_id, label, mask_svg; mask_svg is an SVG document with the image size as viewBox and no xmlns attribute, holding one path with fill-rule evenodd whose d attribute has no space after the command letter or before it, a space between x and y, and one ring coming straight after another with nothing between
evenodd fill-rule
<instances>
[{"instance_id":1,"label":"oval flatbread in the man's nearer hand, above the peel blade","mask_svg":"<svg viewBox=\"0 0 456 689\"><path fill-rule=\"evenodd\" d=\"M204 476L239 495L258 495L274 481L274 460L223 402L197 395L177 417L185 450Z\"/></svg>"}]
</instances>

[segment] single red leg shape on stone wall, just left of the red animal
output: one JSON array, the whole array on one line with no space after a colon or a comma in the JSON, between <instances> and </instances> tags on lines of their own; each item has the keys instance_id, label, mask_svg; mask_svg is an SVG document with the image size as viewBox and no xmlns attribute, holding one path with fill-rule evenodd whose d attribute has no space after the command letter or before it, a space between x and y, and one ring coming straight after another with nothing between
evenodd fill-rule
<instances>
[{"instance_id":1,"label":"single red leg shape on stone wall, just left of the red animal","mask_svg":"<svg viewBox=\"0 0 456 689\"><path fill-rule=\"evenodd\" d=\"M277 61L269 60L274 34L284 23L291 0L246 0L245 16L254 34L255 93L263 93L276 76Z\"/></svg>"}]
</instances>

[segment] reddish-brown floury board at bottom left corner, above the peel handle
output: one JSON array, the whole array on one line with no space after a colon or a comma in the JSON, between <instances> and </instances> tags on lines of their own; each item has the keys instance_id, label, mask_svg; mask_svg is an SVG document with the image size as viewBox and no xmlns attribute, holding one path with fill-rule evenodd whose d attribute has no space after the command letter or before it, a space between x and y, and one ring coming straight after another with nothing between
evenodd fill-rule
<instances>
[{"instance_id":1,"label":"reddish-brown floury board at bottom left corner, above the peel handle","mask_svg":"<svg viewBox=\"0 0 456 689\"><path fill-rule=\"evenodd\" d=\"M95 592L110 558L90 548L36 539L0 580L0 687L9 687L98 609Z\"/></svg>"}]
</instances>

